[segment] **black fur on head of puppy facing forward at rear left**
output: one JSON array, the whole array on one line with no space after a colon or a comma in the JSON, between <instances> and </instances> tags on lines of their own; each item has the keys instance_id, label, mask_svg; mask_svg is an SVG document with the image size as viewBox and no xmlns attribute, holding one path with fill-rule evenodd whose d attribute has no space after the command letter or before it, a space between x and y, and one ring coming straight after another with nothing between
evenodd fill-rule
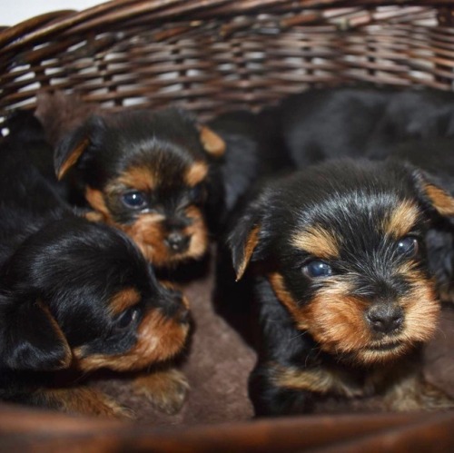
<instances>
[{"instance_id":1,"label":"black fur on head of puppy facing forward at rear left","mask_svg":"<svg viewBox=\"0 0 454 453\"><path fill-rule=\"evenodd\" d=\"M87 188L103 193L108 222L126 231L144 216L151 213L161 216L156 227L162 231L162 239L155 241L160 241L159 247L165 251L162 255L167 256L150 257L154 265L173 267L188 258L201 257L200 251L192 256L194 235L187 228L193 220L185 210L197 207L202 211L202 228L217 229L224 206L222 156L206 151L201 126L192 115L178 109L94 115L57 146L54 156L57 173L79 146L84 151L68 172L68 178L79 187L82 198ZM209 171L194 187L185 182L184 175L196 162L205 163ZM116 184L132 167L151 172L160 181L151 184L153 188L140 191L144 200L140 208L123 202L124 196L136 191L136 187ZM177 235L183 240L178 246L173 241Z\"/></svg>"}]
</instances>

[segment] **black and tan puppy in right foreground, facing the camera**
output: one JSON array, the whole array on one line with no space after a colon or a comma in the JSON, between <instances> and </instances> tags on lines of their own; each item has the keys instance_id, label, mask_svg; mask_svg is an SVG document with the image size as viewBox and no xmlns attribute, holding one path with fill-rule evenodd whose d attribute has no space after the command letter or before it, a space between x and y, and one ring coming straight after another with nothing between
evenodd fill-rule
<instances>
[{"instance_id":1,"label":"black and tan puppy in right foreground, facing the camera","mask_svg":"<svg viewBox=\"0 0 454 453\"><path fill-rule=\"evenodd\" d=\"M439 318L425 237L452 215L449 193L404 162L323 162L259 191L229 236L237 279L251 267L256 282L257 415L333 396L452 406L419 374Z\"/></svg>"}]
</instances>

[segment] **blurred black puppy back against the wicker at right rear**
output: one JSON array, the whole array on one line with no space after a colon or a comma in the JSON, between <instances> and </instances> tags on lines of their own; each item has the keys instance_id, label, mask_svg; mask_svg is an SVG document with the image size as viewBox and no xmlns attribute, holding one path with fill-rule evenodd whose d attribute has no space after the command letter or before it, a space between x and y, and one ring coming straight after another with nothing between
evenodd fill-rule
<instances>
[{"instance_id":1,"label":"blurred black puppy back against the wicker at right rear","mask_svg":"<svg viewBox=\"0 0 454 453\"><path fill-rule=\"evenodd\" d=\"M428 88L313 89L264 113L296 168L339 157L382 159L402 141L454 136L454 94Z\"/></svg>"}]
</instances>

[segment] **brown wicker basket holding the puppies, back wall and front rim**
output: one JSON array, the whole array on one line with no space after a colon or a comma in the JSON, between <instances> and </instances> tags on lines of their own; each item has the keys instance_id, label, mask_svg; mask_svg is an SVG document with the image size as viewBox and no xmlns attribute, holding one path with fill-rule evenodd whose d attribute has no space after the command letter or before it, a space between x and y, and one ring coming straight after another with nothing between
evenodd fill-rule
<instances>
[{"instance_id":1,"label":"brown wicker basket holding the puppies, back wall and front rim","mask_svg":"<svg viewBox=\"0 0 454 453\"><path fill-rule=\"evenodd\" d=\"M202 119L315 85L452 90L453 3L114 0L41 15L0 30L0 116L54 90L110 111L178 104ZM0 406L0 451L447 451L453 425L452 414L370 415L169 432Z\"/></svg>"}]
</instances>

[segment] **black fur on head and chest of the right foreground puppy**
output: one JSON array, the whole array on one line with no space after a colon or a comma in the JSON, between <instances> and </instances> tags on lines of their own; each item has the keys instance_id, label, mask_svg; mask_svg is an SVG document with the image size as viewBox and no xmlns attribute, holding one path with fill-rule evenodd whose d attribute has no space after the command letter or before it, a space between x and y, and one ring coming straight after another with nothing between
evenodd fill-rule
<instances>
[{"instance_id":1,"label":"black fur on head and chest of the right foreground puppy","mask_svg":"<svg viewBox=\"0 0 454 453\"><path fill-rule=\"evenodd\" d=\"M399 305L413 285L411 278L399 271L405 263L411 263L411 272L417 272L418 279L432 288L425 238L443 216L426 196L425 183L421 172L408 163L334 160L265 184L246 205L232 228L229 243L239 277L245 264L252 262L249 271L255 281L262 332L259 359L251 378L257 415L308 412L314 401L337 394L336 389L318 392L281 385L276 380L279 369L314 373L337 370L348 386L361 389L364 396L370 374L383 367L392 368L396 360L399 363L400 359L387 358L377 368L374 363L362 363L360 356L352 357L350 352L325 348L322 338L314 339L311 326L298 327L294 313L272 288L271 275L277 272L282 276L296 312L305 312L320 291L330 288L332 279L349 285L348 295L363 301L366 317L371 307L385 310L387 303ZM407 234L419 244L410 258L396 251L399 238L380 230L393 208L405 201L413 202L419 212L418 221ZM294 234L313 226L330 231L340 244L338 257L321 258L295 247L291 239ZM256 241L252 240L254 230L258 231ZM248 248L253 248L250 256ZM309 278L304 270L314 260L328 263L332 275ZM445 271L451 275L450 269ZM435 324L429 327L435 328ZM390 338L393 335L391 332ZM417 343L409 340L409 349Z\"/></svg>"}]
</instances>

